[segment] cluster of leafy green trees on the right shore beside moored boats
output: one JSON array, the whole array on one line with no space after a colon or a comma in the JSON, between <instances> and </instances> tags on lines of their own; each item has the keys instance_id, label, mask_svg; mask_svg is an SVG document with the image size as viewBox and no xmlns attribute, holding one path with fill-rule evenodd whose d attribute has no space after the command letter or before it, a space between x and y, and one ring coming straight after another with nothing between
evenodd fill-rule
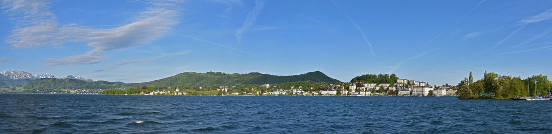
<instances>
[{"instance_id":1,"label":"cluster of leafy green trees on the right shore beside moored boats","mask_svg":"<svg viewBox=\"0 0 552 134\"><path fill-rule=\"evenodd\" d=\"M484 78L473 82L470 72L468 78L458 83L458 99L509 99L512 97L548 96L550 80L543 74L522 79L520 77L500 76L487 73ZM535 88L536 86L536 88Z\"/></svg>"}]
</instances>

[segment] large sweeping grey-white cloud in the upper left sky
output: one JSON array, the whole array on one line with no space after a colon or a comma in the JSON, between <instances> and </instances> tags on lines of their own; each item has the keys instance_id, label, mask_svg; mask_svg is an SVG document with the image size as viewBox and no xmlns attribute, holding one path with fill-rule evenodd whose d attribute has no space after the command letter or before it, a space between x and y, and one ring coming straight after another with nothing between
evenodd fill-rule
<instances>
[{"instance_id":1,"label":"large sweeping grey-white cloud in the upper left sky","mask_svg":"<svg viewBox=\"0 0 552 134\"><path fill-rule=\"evenodd\" d=\"M6 41L13 47L57 46L66 42L87 42L94 47L83 55L45 60L51 66L92 64L105 60L110 50L145 45L178 23L176 1L146 1L151 7L130 24L112 29L95 29L78 24L60 25L46 1L4 1L2 9L17 23Z\"/></svg>"}]
</instances>

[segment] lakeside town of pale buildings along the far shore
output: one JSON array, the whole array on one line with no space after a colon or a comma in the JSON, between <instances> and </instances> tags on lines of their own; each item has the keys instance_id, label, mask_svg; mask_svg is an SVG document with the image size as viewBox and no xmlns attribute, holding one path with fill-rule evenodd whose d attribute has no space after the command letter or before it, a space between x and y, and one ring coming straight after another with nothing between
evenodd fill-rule
<instances>
[{"instance_id":1,"label":"lakeside town of pale buildings along the far shore","mask_svg":"<svg viewBox=\"0 0 552 134\"><path fill-rule=\"evenodd\" d=\"M236 86L219 86L216 95L293 95L293 96L457 96L457 89L452 85L429 85L427 82L408 81L397 79L396 83L341 83L327 84L322 87L327 89L315 89L314 87L279 88L279 84L263 84L258 88L238 89ZM202 89L203 87L199 87ZM146 87L143 87L146 89ZM104 93L110 94L110 93ZM116 94L116 93L115 93ZM128 93L125 93L129 95ZM152 92L142 91L139 95L193 95L178 87L158 89Z\"/></svg>"}]
</instances>

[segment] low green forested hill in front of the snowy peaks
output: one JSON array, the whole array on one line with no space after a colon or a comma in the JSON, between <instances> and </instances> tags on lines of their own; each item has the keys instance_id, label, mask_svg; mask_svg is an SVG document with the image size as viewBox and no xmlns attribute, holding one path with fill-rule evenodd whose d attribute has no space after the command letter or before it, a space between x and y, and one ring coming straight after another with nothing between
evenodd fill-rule
<instances>
[{"instance_id":1,"label":"low green forested hill in front of the snowy peaks","mask_svg":"<svg viewBox=\"0 0 552 134\"><path fill-rule=\"evenodd\" d=\"M107 89L125 87L107 81L83 81L79 79L40 79L23 85L23 89Z\"/></svg>"}]
</instances>

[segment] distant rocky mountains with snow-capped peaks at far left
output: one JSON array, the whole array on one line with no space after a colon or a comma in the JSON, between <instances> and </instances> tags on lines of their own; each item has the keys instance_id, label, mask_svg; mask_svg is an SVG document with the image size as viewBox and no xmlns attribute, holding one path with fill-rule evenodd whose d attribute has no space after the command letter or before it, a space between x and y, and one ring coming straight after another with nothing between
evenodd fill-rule
<instances>
[{"instance_id":1,"label":"distant rocky mountains with snow-capped peaks at far left","mask_svg":"<svg viewBox=\"0 0 552 134\"><path fill-rule=\"evenodd\" d=\"M56 78L50 73L40 74L33 76L33 74L26 71L4 71L0 72L0 87L8 87L13 85L24 85L29 82L38 81L41 79ZM82 81L93 81L89 78L81 76L69 75L66 79L78 79Z\"/></svg>"}]
</instances>

